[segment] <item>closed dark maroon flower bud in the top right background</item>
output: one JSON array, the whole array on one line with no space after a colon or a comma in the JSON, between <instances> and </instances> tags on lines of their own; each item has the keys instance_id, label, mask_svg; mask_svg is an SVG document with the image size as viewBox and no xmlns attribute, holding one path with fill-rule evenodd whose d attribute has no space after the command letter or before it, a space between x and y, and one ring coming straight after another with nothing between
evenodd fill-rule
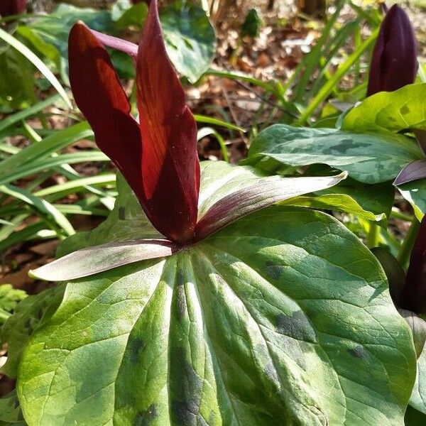
<instances>
[{"instance_id":1,"label":"closed dark maroon flower bud in the top right background","mask_svg":"<svg viewBox=\"0 0 426 426\"><path fill-rule=\"evenodd\" d=\"M386 13L371 58L367 96L393 92L412 84L417 74L417 42L413 26L397 4Z\"/></svg>"}]
</instances>

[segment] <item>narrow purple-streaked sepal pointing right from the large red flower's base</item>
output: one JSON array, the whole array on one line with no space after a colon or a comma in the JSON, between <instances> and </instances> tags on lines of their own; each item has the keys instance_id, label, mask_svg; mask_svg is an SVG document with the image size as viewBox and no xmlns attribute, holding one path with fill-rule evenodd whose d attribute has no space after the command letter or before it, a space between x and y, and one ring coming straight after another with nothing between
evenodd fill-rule
<instances>
[{"instance_id":1,"label":"narrow purple-streaked sepal pointing right from the large red flower's base","mask_svg":"<svg viewBox=\"0 0 426 426\"><path fill-rule=\"evenodd\" d=\"M200 218L195 241L200 241L237 219L289 198L324 190L344 180L347 173L325 178L264 178L219 200Z\"/></svg>"}]
</instances>

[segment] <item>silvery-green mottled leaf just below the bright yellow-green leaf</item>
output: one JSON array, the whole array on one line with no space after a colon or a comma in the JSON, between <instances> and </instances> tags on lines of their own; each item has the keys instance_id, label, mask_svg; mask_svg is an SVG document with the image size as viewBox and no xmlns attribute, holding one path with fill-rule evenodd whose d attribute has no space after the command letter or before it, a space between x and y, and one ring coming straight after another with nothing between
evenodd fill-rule
<instances>
[{"instance_id":1,"label":"silvery-green mottled leaf just below the bright yellow-green leaf","mask_svg":"<svg viewBox=\"0 0 426 426\"><path fill-rule=\"evenodd\" d=\"M327 164L372 184L394 179L405 165L422 156L413 139L391 132L354 133L275 124L253 140L249 158L242 163L259 168L267 159L276 167ZM268 168L271 170L270 163Z\"/></svg>"}]
</instances>

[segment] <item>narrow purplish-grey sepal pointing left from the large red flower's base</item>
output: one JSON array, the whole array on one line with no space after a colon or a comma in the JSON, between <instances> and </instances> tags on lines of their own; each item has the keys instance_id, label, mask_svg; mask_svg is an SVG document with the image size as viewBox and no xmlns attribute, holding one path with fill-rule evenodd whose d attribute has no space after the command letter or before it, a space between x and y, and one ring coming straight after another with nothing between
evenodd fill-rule
<instances>
[{"instance_id":1,"label":"narrow purplish-grey sepal pointing left from the large red flower's base","mask_svg":"<svg viewBox=\"0 0 426 426\"><path fill-rule=\"evenodd\" d=\"M148 259L170 256L180 247L166 239L116 241L67 254L30 271L33 278L69 281Z\"/></svg>"}]
</instances>

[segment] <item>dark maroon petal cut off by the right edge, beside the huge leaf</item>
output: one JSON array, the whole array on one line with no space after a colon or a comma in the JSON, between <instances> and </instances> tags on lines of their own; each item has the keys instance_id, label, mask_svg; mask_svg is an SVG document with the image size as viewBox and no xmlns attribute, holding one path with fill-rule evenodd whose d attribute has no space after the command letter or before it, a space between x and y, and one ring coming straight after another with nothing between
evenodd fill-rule
<instances>
[{"instance_id":1,"label":"dark maroon petal cut off by the right edge, beside the huge leaf","mask_svg":"<svg viewBox=\"0 0 426 426\"><path fill-rule=\"evenodd\" d=\"M426 313L426 216L423 217L410 256L405 285L400 296L400 307Z\"/></svg>"}]
</instances>

